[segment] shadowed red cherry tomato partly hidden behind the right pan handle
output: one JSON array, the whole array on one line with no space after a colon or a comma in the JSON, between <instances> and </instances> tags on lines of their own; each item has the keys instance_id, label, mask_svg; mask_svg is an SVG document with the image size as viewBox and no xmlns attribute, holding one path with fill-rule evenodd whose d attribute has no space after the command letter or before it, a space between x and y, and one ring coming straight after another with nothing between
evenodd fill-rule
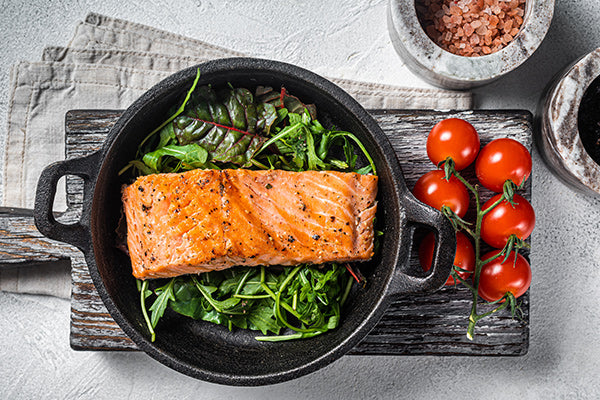
<instances>
[{"instance_id":1,"label":"shadowed red cherry tomato partly hidden behind the right pan handle","mask_svg":"<svg viewBox=\"0 0 600 400\"><path fill-rule=\"evenodd\" d=\"M423 241L419 245L419 262L423 271L429 271L431 268L431 262L433 261L433 249L435 247L435 234L429 233L423 238ZM454 256L454 265L467 270L475 270L475 251L473 250L473 244L469 238L462 232L456 232L456 255ZM468 272L458 272L458 275L464 280L471 279L471 275ZM450 275L446 281L446 286L454 285L454 277Z\"/></svg>"}]
</instances>

